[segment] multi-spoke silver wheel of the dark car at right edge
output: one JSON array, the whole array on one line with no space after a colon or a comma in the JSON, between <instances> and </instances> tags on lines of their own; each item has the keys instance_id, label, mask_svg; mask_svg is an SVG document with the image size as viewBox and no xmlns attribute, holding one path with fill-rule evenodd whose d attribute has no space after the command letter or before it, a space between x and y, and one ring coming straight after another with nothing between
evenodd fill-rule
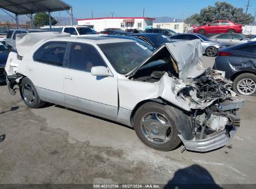
<instances>
[{"instance_id":1,"label":"multi-spoke silver wheel of the dark car at right edge","mask_svg":"<svg viewBox=\"0 0 256 189\"><path fill-rule=\"evenodd\" d=\"M256 75L253 73L242 73L233 82L233 90L237 94L256 94Z\"/></svg>"}]
</instances>

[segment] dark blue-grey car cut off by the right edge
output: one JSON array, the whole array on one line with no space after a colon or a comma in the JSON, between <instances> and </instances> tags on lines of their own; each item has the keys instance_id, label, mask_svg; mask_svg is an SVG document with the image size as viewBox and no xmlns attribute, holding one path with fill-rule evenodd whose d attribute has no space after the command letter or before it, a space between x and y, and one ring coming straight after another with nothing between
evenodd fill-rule
<instances>
[{"instance_id":1,"label":"dark blue-grey car cut off by the right edge","mask_svg":"<svg viewBox=\"0 0 256 189\"><path fill-rule=\"evenodd\" d=\"M225 71L225 77L234 81L238 94L256 94L256 42L235 45L220 50L215 59L215 70Z\"/></svg>"}]
</instances>

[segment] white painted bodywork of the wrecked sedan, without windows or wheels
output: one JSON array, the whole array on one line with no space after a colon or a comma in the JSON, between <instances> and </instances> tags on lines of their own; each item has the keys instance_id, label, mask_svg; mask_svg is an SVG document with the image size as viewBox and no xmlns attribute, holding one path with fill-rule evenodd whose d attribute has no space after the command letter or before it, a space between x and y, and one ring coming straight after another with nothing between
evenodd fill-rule
<instances>
[{"instance_id":1,"label":"white painted bodywork of the wrecked sedan, without windows or wheels","mask_svg":"<svg viewBox=\"0 0 256 189\"><path fill-rule=\"evenodd\" d=\"M40 99L43 101L61 104L73 109L96 114L103 118L118 121L128 126L133 126L131 122L133 110L139 103L149 99L165 99L169 103L187 112L191 112L192 109L205 109L218 99L216 97L201 102L198 100L195 90L190 92L191 98L178 95L179 92L187 86L196 88L192 78L202 75L205 72L201 67L202 50L198 40L164 44L150 57L146 58L138 67L130 71L130 73L123 75L115 71L98 45L135 42L133 40L104 39L103 37L96 40L90 37L66 37L65 35L55 37L56 33L54 32L47 32L46 39L42 39L44 37L40 34L38 37L36 37L36 35L37 34L17 35L17 53L22 56L22 59L17 58L17 54L11 52L5 70L8 76L16 76L19 74L17 78L15 78L17 83L19 83L22 78L20 75L27 76L34 86L36 86ZM34 37L33 40L31 40L32 36ZM111 73L110 76L99 77L92 75L89 71L73 70L35 61L33 59L34 52L50 41L79 42L93 45L107 64L107 68ZM34 45L32 46L33 43ZM26 48L29 47L28 44L31 45L31 48ZM22 49L22 47L25 47L24 49L26 50ZM160 53L171 56L174 61L173 63L178 65L178 78L164 73L161 79L156 82L132 80L132 77L136 75L140 67L149 63L151 58L160 55ZM224 80L224 73L214 71L213 74L216 75L216 79ZM230 91L230 96L234 101L237 100L233 91ZM239 104L239 107L242 106L243 102L244 101ZM214 124L214 128L215 127L216 124ZM207 139L210 140L207 142L211 145L209 144L202 149L197 147L197 145L201 145L200 142L204 141L186 141L181 134L179 134L179 137L184 144L186 144L185 147L187 149L204 151L227 144L229 139L226 138L224 131L219 132L219 134L212 139ZM235 130L232 131L230 135L233 136L234 132ZM221 142L215 144L218 140ZM212 144L212 142L214 142L214 144Z\"/></svg>"}]
</instances>

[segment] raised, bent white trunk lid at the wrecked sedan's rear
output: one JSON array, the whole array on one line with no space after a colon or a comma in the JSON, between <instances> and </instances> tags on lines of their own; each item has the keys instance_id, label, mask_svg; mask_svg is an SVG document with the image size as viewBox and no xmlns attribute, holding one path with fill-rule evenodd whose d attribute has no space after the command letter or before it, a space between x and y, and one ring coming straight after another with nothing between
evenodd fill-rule
<instances>
[{"instance_id":1,"label":"raised, bent white trunk lid at the wrecked sedan's rear","mask_svg":"<svg viewBox=\"0 0 256 189\"><path fill-rule=\"evenodd\" d=\"M58 37L70 37L70 34L60 32L35 32L16 35L17 53L23 57L28 50L37 42L44 39L52 39Z\"/></svg>"}]
</instances>

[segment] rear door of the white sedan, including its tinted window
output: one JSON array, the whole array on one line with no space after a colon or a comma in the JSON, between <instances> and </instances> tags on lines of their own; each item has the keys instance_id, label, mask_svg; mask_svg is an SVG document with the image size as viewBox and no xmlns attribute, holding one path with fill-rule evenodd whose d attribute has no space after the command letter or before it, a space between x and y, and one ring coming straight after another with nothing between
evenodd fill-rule
<instances>
[{"instance_id":1,"label":"rear door of the white sedan, including its tinted window","mask_svg":"<svg viewBox=\"0 0 256 189\"><path fill-rule=\"evenodd\" d=\"M36 86L43 101L65 104L64 59L67 42L50 41L27 58L26 76Z\"/></svg>"}]
</instances>

